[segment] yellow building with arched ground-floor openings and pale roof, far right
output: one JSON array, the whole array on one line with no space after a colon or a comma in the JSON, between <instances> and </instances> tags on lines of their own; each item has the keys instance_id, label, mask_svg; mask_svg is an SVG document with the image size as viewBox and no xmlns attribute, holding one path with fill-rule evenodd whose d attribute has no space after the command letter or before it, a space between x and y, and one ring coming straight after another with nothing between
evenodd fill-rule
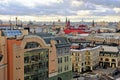
<instances>
[{"instance_id":1,"label":"yellow building with arched ground-floor openings and pale roof, far right","mask_svg":"<svg viewBox=\"0 0 120 80\"><path fill-rule=\"evenodd\" d=\"M103 68L120 67L120 52L118 47L102 46L99 59L99 65Z\"/></svg>"}]
</instances>

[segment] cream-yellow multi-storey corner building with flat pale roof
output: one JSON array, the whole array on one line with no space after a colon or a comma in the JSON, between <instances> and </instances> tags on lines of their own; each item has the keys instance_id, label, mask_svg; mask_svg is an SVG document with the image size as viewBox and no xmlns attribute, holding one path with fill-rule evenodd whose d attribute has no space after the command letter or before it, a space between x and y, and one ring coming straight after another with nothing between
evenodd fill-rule
<instances>
[{"instance_id":1,"label":"cream-yellow multi-storey corner building with flat pale roof","mask_svg":"<svg viewBox=\"0 0 120 80\"><path fill-rule=\"evenodd\" d=\"M95 69L99 65L101 46L81 50L71 49L72 69L74 72L84 72Z\"/></svg>"}]
</instances>

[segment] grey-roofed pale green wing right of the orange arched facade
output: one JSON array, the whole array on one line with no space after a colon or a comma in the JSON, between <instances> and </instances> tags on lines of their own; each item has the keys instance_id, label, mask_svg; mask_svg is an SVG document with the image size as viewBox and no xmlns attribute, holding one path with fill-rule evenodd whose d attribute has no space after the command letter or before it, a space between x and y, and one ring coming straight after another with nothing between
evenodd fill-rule
<instances>
[{"instance_id":1,"label":"grey-roofed pale green wing right of the orange arched facade","mask_svg":"<svg viewBox=\"0 0 120 80\"><path fill-rule=\"evenodd\" d=\"M43 37L45 42L53 47L57 59L57 75L49 80L70 80L72 79L72 67L70 56L70 43L66 37ZM52 44L50 42L52 41Z\"/></svg>"}]
</instances>

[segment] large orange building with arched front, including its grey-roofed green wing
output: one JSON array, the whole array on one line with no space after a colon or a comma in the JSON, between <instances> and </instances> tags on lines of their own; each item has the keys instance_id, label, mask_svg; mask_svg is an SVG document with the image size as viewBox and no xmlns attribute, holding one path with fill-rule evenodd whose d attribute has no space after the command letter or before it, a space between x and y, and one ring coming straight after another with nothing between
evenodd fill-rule
<instances>
[{"instance_id":1,"label":"large orange building with arched front, including its grey-roofed green wing","mask_svg":"<svg viewBox=\"0 0 120 80\"><path fill-rule=\"evenodd\" d=\"M6 42L8 80L72 79L70 43L66 37L28 35L24 30L2 30L1 36L6 37L2 41ZM1 60L3 56L0 53Z\"/></svg>"}]
</instances>

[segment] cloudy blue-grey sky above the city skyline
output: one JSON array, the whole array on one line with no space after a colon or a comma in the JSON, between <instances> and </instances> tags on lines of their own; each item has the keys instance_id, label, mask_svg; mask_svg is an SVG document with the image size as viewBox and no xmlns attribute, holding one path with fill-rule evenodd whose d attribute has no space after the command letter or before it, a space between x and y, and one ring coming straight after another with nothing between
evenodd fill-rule
<instances>
[{"instance_id":1,"label":"cloudy blue-grey sky above the city skyline","mask_svg":"<svg viewBox=\"0 0 120 80\"><path fill-rule=\"evenodd\" d=\"M120 0L0 0L0 20L120 21Z\"/></svg>"}]
</instances>

